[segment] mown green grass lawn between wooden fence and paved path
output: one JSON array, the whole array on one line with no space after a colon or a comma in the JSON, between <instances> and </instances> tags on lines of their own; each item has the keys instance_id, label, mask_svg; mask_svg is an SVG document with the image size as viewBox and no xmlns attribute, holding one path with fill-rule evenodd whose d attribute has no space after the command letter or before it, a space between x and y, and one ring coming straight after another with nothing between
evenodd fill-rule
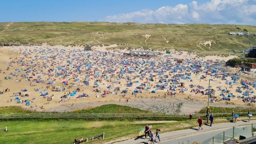
<instances>
[{"instance_id":1,"label":"mown green grass lawn between wooden fence and paved path","mask_svg":"<svg viewBox=\"0 0 256 144\"><path fill-rule=\"evenodd\" d=\"M228 122L226 118L216 118L215 123ZM161 129L161 133L189 129L195 127L196 120L177 121L170 123L154 123L153 130ZM105 133L105 139L90 141L104 143L134 138L145 124L135 121L1 121L0 128L8 127L8 131L0 131L0 143L72 143L75 137L90 138ZM124 139L124 140L125 140Z\"/></svg>"}]
</instances>

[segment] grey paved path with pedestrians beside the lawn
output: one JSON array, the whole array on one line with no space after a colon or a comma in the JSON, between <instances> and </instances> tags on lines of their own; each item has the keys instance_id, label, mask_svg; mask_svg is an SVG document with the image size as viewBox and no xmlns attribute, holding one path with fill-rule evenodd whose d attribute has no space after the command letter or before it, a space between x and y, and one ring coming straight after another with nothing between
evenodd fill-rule
<instances>
[{"instance_id":1,"label":"grey paved path with pedestrians beside the lawn","mask_svg":"<svg viewBox=\"0 0 256 144\"><path fill-rule=\"evenodd\" d=\"M198 127L194 127L192 129L186 129L186 130L179 130L179 131L172 131L172 132L166 132L161 134L161 143L167 142L167 141L173 141L185 137L192 137L196 135L201 135L205 134L208 132L215 132L215 131L221 131L221 130L226 130L228 128L231 128L233 126L242 126L242 125L249 125L252 123L256 123L256 120L252 120L250 122L246 121L238 121L237 123L232 123L232 122L226 122L226 123L221 123L221 124L214 124L212 127L204 125L203 130L197 131ZM210 138L211 136L207 137ZM158 139L157 139L158 140ZM184 141L186 143L186 141ZM192 141L191 141L192 142ZM118 144L137 144L137 143L150 143L150 139L145 139L145 137L137 137L135 139L131 140L126 140L122 142L118 142Z\"/></svg>"}]
</instances>

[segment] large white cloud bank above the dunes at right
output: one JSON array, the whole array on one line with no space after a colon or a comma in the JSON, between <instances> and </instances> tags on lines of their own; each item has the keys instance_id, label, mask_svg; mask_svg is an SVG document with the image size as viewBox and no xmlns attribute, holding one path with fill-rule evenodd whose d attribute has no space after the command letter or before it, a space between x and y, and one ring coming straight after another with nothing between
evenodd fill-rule
<instances>
[{"instance_id":1,"label":"large white cloud bank above the dunes at right","mask_svg":"<svg viewBox=\"0 0 256 144\"><path fill-rule=\"evenodd\" d=\"M256 25L256 0L211 0L198 4L164 6L157 10L142 9L137 12L109 15L106 22L136 23L211 23Z\"/></svg>"}]
</instances>

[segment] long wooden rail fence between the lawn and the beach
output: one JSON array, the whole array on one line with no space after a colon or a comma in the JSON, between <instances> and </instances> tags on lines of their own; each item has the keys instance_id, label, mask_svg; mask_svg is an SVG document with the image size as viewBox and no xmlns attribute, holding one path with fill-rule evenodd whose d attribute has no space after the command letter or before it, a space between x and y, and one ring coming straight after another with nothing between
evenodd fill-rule
<instances>
[{"instance_id":1,"label":"long wooden rail fence between the lawn and the beach","mask_svg":"<svg viewBox=\"0 0 256 144\"><path fill-rule=\"evenodd\" d=\"M247 113L235 113L246 115ZM256 112L252 112L256 114ZM192 114L194 118L205 117L206 114ZM215 117L231 116L231 113L216 113ZM1 114L0 119L22 118L67 118L67 119L116 119L116 118L188 118L189 114L166 114L166 113L97 113L97 114L68 114L68 113L30 113L30 114Z\"/></svg>"}]
</instances>

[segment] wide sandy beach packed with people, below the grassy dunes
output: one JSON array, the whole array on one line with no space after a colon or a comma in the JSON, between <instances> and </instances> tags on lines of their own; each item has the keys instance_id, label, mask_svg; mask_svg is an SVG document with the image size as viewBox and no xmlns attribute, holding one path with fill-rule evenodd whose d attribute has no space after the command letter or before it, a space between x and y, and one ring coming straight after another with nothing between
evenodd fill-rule
<instances>
[{"instance_id":1,"label":"wide sandy beach packed with people, below the grassy dunes","mask_svg":"<svg viewBox=\"0 0 256 144\"><path fill-rule=\"evenodd\" d=\"M115 103L156 112L190 113L206 106L209 79L214 79L210 86L215 91L211 105L222 106L227 102L227 106L254 105L243 102L243 98L238 97L243 93L236 92L237 87L242 86L242 79L248 77L251 81L254 77L241 76L233 83L231 76L223 79L217 74L221 72L213 72L210 67L236 56L198 58L195 54L174 50L171 54L162 52L153 57L123 56L125 50L108 50L115 46L93 47L97 51L46 44L1 47L0 105L70 111ZM179 60L182 63L178 63ZM132 86L127 87L129 83ZM254 96L253 85L248 84L248 88L241 90L249 90L249 97ZM41 92L48 95L41 96ZM235 97L230 101L220 100L221 93L225 97L232 93ZM15 101L16 97L19 100ZM30 104L26 105L28 101Z\"/></svg>"}]
</instances>

